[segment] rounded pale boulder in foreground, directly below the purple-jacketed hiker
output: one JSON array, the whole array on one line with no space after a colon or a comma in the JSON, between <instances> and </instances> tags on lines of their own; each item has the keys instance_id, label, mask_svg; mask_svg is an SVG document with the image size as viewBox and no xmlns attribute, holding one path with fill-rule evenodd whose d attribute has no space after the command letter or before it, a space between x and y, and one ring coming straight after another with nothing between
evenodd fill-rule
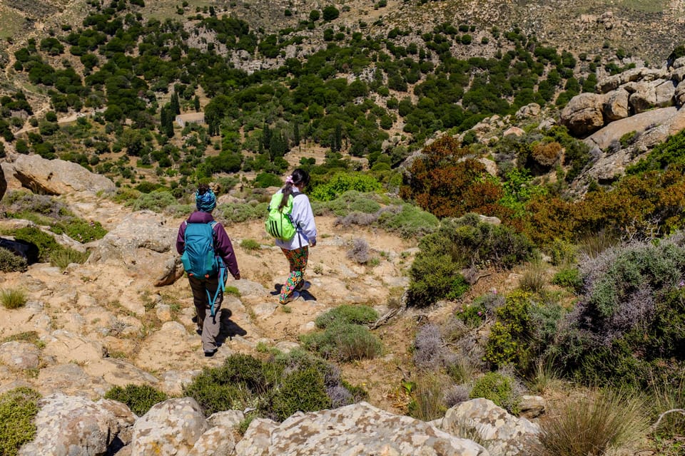
<instances>
[{"instance_id":1,"label":"rounded pale boulder in foreground, directly below the purple-jacketed hiker","mask_svg":"<svg viewBox=\"0 0 685 456\"><path fill-rule=\"evenodd\" d=\"M186 456L208 429L195 399L165 400L133 425L131 455Z\"/></svg>"}]
</instances>

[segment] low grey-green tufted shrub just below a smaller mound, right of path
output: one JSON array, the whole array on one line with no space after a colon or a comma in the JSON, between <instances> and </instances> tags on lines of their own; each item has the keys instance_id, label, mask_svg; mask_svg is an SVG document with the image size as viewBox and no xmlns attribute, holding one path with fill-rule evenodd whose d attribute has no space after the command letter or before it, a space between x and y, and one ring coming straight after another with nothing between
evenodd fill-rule
<instances>
[{"instance_id":1,"label":"low grey-green tufted shrub just below a smaller mound, right of path","mask_svg":"<svg viewBox=\"0 0 685 456\"><path fill-rule=\"evenodd\" d=\"M338 361L373 359L382 351L380 340L365 326L338 323L302 336L303 345L324 358Z\"/></svg>"}]
</instances>

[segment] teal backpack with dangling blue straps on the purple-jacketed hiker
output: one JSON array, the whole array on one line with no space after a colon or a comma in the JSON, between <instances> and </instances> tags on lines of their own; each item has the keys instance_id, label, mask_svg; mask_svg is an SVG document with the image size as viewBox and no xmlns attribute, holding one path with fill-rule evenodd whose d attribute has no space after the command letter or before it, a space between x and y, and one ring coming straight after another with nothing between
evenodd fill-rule
<instances>
[{"instance_id":1,"label":"teal backpack with dangling blue straps on the purple-jacketed hiker","mask_svg":"<svg viewBox=\"0 0 685 456\"><path fill-rule=\"evenodd\" d=\"M214 299L207 291L212 316L214 316L214 302L219 295L219 290L225 289L224 281L226 279L225 264L223 264L221 257L214 252L215 224L215 221L209 223L186 222L184 234L186 245L181 255L181 263L183 263L183 269L186 269L188 276L200 280L218 276L219 286L216 289Z\"/></svg>"}]
</instances>

